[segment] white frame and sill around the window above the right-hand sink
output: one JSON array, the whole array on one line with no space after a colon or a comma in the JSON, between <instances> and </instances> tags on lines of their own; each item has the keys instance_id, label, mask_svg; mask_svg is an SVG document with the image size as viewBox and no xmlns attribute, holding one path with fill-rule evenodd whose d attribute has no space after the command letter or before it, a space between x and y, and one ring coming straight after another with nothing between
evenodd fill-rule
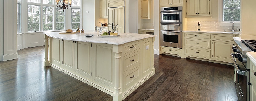
<instances>
[{"instance_id":1,"label":"white frame and sill around the window above the right-hand sink","mask_svg":"<svg viewBox=\"0 0 256 101\"><path fill-rule=\"evenodd\" d=\"M219 23L219 26L232 26L232 24L229 22L229 21L222 21L223 19L223 2L224 0L218 0L218 6L219 6L219 9L218 9L218 23ZM240 0L241 2L241 0ZM240 3L240 10L241 10L241 3ZM240 18L240 21L236 21L234 22L234 26L240 26L241 24L241 18Z\"/></svg>"}]
</instances>

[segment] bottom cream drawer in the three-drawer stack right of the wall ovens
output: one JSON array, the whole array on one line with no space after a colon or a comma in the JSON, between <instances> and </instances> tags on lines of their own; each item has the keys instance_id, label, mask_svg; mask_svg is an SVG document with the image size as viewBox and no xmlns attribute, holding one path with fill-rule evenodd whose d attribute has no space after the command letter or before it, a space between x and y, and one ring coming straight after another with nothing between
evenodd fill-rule
<instances>
[{"instance_id":1,"label":"bottom cream drawer in the three-drawer stack right of the wall ovens","mask_svg":"<svg viewBox=\"0 0 256 101\"><path fill-rule=\"evenodd\" d=\"M207 49L196 49L196 48L188 48L185 47L185 54L186 55L192 55L196 57L205 57L205 58L211 58L211 50Z\"/></svg>"}]
</instances>

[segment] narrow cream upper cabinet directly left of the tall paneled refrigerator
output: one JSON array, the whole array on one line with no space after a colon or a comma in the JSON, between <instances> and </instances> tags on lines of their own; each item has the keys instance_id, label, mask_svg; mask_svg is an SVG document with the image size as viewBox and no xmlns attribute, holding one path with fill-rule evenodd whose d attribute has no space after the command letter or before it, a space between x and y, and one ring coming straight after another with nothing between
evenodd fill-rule
<instances>
[{"instance_id":1,"label":"narrow cream upper cabinet directly left of the tall paneled refrigerator","mask_svg":"<svg viewBox=\"0 0 256 101\"><path fill-rule=\"evenodd\" d=\"M100 0L100 18L107 19L108 18L108 9L107 9L107 1Z\"/></svg>"}]
</instances>

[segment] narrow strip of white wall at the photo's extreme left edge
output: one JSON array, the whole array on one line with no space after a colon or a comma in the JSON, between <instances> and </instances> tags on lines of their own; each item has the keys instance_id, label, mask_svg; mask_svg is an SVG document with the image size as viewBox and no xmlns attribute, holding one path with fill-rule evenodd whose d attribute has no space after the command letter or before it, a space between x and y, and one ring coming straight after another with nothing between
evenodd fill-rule
<instances>
[{"instance_id":1,"label":"narrow strip of white wall at the photo's extreme left edge","mask_svg":"<svg viewBox=\"0 0 256 101\"><path fill-rule=\"evenodd\" d=\"M4 15L4 12L3 12L3 9L4 9L4 6L3 6L3 3L0 3L0 61L3 61L3 55L4 55L4 52L3 52L3 37L4 37L4 33L3 33L3 25L4 25L4 22L3 22L3 15Z\"/></svg>"}]
</instances>

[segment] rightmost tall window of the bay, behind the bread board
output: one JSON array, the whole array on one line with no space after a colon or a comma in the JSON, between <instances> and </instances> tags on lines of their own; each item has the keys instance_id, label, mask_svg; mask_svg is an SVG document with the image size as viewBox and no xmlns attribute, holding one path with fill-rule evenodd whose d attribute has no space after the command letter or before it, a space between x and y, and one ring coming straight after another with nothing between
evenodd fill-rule
<instances>
[{"instance_id":1,"label":"rightmost tall window of the bay, behind the bread board","mask_svg":"<svg viewBox=\"0 0 256 101\"><path fill-rule=\"evenodd\" d=\"M80 28L80 9L72 9L72 12L76 12L76 13L72 13L72 29L77 29L77 27Z\"/></svg>"}]
</instances>

